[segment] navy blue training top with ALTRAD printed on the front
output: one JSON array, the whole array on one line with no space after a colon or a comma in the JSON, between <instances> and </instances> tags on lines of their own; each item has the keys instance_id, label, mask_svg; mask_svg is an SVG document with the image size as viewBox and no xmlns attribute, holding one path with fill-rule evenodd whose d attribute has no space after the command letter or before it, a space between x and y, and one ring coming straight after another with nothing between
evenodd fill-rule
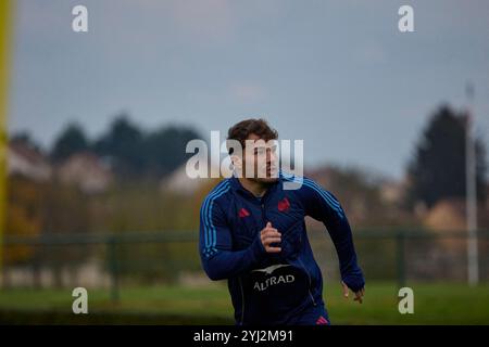
<instances>
[{"instance_id":1,"label":"navy blue training top with ALTRAD printed on the front","mask_svg":"<svg viewBox=\"0 0 489 347\"><path fill-rule=\"evenodd\" d=\"M289 189L291 184L300 188ZM313 180L280 172L260 198L233 176L204 198L199 239L203 269L211 280L228 280L237 324L287 324L324 305L305 216L325 224L342 281L353 292L361 290L365 281L347 216L338 200ZM260 239L268 221L281 233L277 254L266 253Z\"/></svg>"}]
</instances>

